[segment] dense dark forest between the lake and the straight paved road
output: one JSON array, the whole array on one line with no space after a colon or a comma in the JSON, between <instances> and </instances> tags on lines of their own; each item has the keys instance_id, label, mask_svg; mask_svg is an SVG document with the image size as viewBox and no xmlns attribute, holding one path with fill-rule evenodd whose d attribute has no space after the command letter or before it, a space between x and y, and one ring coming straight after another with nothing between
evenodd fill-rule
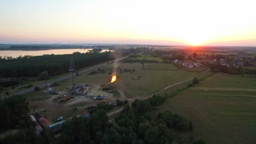
<instances>
[{"instance_id":1,"label":"dense dark forest between the lake and the straight paved road","mask_svg":"<svg viewBox=\"0 0 256 144\"><path fill-rule=\"evenodd\" d=\"M113 59L112 52L74 53L75 69ZM50 76L68 72L69 54L25 56L13 61L0 63L0 77L38 77L47 71Z\"/></svg>"}]
</instances>

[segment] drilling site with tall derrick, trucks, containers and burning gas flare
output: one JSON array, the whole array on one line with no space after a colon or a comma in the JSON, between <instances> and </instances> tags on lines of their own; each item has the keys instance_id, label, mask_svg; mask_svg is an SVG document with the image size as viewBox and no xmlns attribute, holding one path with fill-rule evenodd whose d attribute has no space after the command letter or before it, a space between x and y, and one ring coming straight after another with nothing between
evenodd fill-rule
<instances>
[{"instance_id":1,"label":"drilling site with tall derrick, trucks, containers and burning gas flare","mask_svg":"<svg viewBox=\"0 0 256 144\"><path fill-rule=\"evenodd\" d=\"M68 86L48 85L44 91L38 92L43 96L32 99L30 117L35 125L36 134L39 134L43 128L49 128L52 133L55 133L59 131L65 120L75 116L89 117L88 110L99 104L107 102L116 106L116 98L111 93L112 89L115 89L116 76L100 85L77 83L73 55L70 55L68 70ZM64 88L64 91L59 91L60 88Z\"/></svg>"}]
</instances>

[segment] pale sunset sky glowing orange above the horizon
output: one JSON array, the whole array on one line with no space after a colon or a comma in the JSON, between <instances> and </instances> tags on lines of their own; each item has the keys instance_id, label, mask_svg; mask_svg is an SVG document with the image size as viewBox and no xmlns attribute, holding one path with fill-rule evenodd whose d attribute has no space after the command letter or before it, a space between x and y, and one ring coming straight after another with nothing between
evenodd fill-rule
<instances>
[{"instance_id":1,"label":"pale sunset sky glowing orange above the horizon","mask_svg":"<svg viewBox=\"0 0 256 144\"><path fill-rule=\"evenodd\" d=\"M256 0L0 0L0 43L256 46Z\"/></svg>"}]
</instances>

